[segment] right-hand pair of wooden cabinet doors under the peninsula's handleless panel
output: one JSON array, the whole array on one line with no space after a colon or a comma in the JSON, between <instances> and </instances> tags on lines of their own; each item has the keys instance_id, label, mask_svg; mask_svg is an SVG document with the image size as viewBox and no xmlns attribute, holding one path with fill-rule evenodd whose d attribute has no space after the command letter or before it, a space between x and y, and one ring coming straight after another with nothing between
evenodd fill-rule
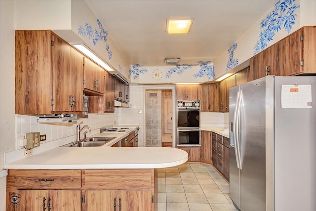
<instances>
[{"instance_id":1,"label":"right-hand pair of wooden cabinet doors under the peninsula's handleless panel","mask_svg":"<svg viewBox=\"0 0 316 211\"><path fill-rule=\"evenodd\" d=\"M151 211L152 192L134 190L87 190L85 211Z\"/></svg>"}]
</instances>

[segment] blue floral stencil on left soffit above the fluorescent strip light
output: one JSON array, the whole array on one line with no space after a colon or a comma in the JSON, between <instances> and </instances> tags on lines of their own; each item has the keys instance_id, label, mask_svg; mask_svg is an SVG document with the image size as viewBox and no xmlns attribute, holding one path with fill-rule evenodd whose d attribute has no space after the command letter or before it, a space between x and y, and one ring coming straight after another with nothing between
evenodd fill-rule
<instances>
[{"instance_id":1,"label":"blue floral stencil on left soffit above the fluorescent strip light","mask_svg":"<svg viewBox=\"0 0 316 211\"><path fill-rule=\"evenodd\" d=\"M103 28L99 19L97 19L97 23L99 26L99 30L94 29L94 31L93 31L90 24L85 23L84 26L81 26L81 25L79 26L78 34L82 37L85 37L85 38L87 36L89 36L89 40L92 39L92 42L94 45L97 45L97 43L99 41L103 41L105 44L105 49L108 52L109 59L111 59L112 58L112 51L110 50L110 46L107 43L108 32Z\"/></svg>"}]
</instances>

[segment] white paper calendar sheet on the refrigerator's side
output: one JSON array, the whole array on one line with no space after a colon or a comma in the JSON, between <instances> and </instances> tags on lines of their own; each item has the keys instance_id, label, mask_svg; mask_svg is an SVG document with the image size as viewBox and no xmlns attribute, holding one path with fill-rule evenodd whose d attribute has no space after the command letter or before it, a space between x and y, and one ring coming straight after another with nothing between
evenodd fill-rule
<instances>
[{"instance_id":1,"label":"white paper calendar sheet on the refrigerator's side","mask_svg":"<svg viewBox=\"0 0 316 211\"><path fill-rule=\"evenodd\" d=\"M282 108L312 108L312 85L282 85Z\"/></svg>"}]
</instances>

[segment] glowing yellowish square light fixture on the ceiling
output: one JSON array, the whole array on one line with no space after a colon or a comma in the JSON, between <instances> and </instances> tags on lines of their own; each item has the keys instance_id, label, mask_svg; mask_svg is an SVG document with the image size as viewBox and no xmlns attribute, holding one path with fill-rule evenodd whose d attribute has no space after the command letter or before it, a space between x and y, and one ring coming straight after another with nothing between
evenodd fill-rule
<instances>
[{"instance_id":1,"label":"glowing yellowish square light fixture on the ceiling","mask_svg":"<svg viewBox=\"0 0 316 211\"><path fill-rule=\"evenodd\" d=\"M167 19L166 32L168 34L188 34L192 26L192 19Z\"/></svg>"}]
</instances>

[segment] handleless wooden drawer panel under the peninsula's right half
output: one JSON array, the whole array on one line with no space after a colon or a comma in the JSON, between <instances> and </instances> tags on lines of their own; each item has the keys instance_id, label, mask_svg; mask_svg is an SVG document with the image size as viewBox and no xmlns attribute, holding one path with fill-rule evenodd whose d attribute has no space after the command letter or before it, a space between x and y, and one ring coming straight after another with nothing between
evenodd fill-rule
<instances>
[{"instance_id":1,"label":"handleless wooden drawer panel under the peninsula's right half","mask_svg":"<svg viewBox=\"0 0 316 211\"><path fill-rule=\"evenodd\" d=\"M151 189L153 169L111 169L84 171L86 189Z\"/></svg>"}]
</instances>

